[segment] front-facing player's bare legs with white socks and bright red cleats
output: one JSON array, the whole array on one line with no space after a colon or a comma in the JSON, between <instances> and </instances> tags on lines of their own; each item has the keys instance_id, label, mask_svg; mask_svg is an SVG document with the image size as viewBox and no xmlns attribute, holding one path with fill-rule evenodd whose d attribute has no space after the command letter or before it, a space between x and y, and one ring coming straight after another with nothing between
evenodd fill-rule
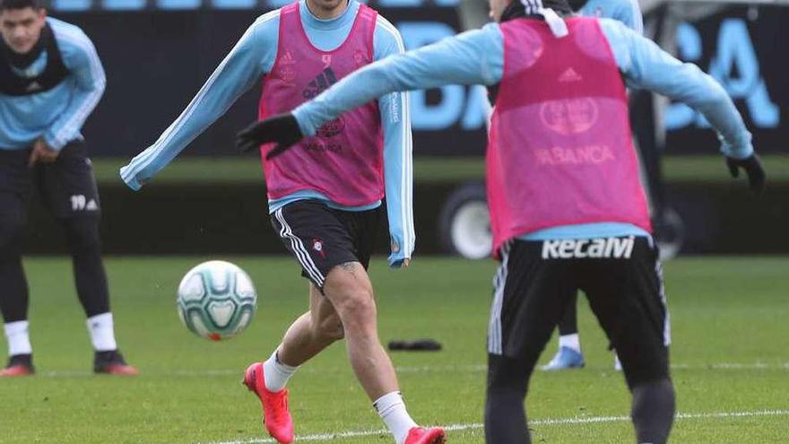
<instances>
[{"instance_id":1,"label":"front-facing player's bare legs with white socks and bright red cleats","mask_svg":"<svg viewBox=\"0 0 789 444\"><path fill-rule=\"evenodd\" d=\"M268 361L247 370L245 383L263 402L266 429L279 442L293 440L285 383L299 365L345 337L351 367L395 441L443 443L443 430L418 427L405 409L395 368L378 340L376 303L364 267L358 262L334 267L324 292L310 287L310 310L290 326Z\"/></svg>"}]
</instances>

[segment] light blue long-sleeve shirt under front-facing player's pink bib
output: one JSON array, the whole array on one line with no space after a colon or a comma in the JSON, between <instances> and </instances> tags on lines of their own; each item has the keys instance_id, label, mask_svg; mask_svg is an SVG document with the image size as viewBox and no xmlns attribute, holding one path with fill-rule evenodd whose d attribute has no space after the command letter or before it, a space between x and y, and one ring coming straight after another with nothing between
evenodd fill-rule
<instances>
[{"instance_id":1,"label":"light blue long-sleeve shirt under front-facing player's pink bib","mask_svg":"<svg viewBox=\"0 0 789 444\"><path fill-rule=\"evenodd\" d=\"M348 37L359 11L360 3L351 0L342 15L331 20L317 19L301 0L301 23L308 38L317 48L328 51L339 47ZM121 178L134 190L153 178L183 151L197 135L230 108L238 97L269 73L277 57L280 10L265 13L256 20L225 57L219 67L186 107L180 117L160 136L156 143L121 169ZM376 60L405 51L398 30L380 15L373 37ZM415 244L412 215L412 132L408 95L405 92L382 94L378 101L384 133L384 178L389 234L393 248L391 266L400 266L410 258ZM377 202L363 207L345 207L331 202L317 191L299 191L269 201L273 213L284 205L304 199L325 201L326 205L347 211L376 208Z\"/></svg>"}]
</instances>

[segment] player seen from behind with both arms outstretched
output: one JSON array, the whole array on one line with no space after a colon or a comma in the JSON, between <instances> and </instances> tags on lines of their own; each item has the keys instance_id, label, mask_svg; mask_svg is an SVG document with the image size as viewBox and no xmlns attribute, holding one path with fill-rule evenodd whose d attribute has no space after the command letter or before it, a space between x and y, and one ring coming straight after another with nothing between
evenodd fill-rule
<instances>
[{"instance_id":1,"label":"player seen from behind with both arms outstretched","mask_svg":"<svg viewBox=\"0 0 789 444\"><path fill-rule=\"evenodd\" d=\"M487 187L501 267L488 332L486 440L531 441L528 381L567 309L567 289L579 288L620 355L637 442L663 444L675 408L667 314L625 82L702 112L732 174L745 170L759 192L765 174L750 133L715 80L620 22L564 20L566 0L490 0L490 9L498 23L366 66L239 137L287 153L302 135L391 91L498 84Z\"/></svg>"}]
</instances>

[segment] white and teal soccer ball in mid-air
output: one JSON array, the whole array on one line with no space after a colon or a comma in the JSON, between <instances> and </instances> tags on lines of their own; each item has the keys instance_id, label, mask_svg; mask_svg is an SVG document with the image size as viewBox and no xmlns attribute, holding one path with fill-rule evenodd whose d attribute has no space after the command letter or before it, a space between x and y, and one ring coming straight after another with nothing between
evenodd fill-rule
<instances>
[{"instance_id":1,"label":"white and teal soccer ball in mid-air","mask_svg":"<svg viewBox=\"0 0 789 444\"><path fill-rule=\"evenodd\" d=\"M244 270L212 260L195 266L181 279L177 305L178 316L195 335L221 341L249 326L257 293Z\"/></svg>"}]
</instances>

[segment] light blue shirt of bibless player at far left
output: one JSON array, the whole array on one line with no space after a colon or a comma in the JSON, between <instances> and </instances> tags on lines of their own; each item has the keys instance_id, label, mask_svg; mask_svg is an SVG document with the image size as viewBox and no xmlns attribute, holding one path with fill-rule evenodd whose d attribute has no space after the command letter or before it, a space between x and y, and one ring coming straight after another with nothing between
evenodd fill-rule
<instances>
[{"instance_id":1,"label":"light blue shirt of bibless player at far left","mask_svg":"<svg viewBox=\"0 0 789 444\"><path fill-rule=\"evenodd\" d=\"M22 150L36 139L54 150L82 139L82 125L104 94L107 79L96 48L81 29L51 17L52 28L63 63L69 71L65 79L48 91L26 96L0 94L0 149ZM36 77L47 67L43 51L24 72Z\"/></svg>"}]
</instances>

